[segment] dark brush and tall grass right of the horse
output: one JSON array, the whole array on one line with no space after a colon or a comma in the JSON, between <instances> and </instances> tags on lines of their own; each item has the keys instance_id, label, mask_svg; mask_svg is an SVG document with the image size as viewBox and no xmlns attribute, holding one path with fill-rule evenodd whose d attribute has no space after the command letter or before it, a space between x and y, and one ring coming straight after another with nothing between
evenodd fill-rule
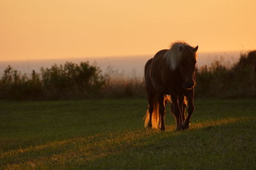
<instances>
[{"instance_id":1,"label":"dark brush and tall grass right of the horse","mask_svg":"<svg viewBox=\"0 0 256 170\"><path fill-rule=\"evenodd\" d=\"M216 61L210 67L200 67L196 72L196 96L256 96L256 51L241 54L232 67Z\"/></svg>"}]
</instances>

